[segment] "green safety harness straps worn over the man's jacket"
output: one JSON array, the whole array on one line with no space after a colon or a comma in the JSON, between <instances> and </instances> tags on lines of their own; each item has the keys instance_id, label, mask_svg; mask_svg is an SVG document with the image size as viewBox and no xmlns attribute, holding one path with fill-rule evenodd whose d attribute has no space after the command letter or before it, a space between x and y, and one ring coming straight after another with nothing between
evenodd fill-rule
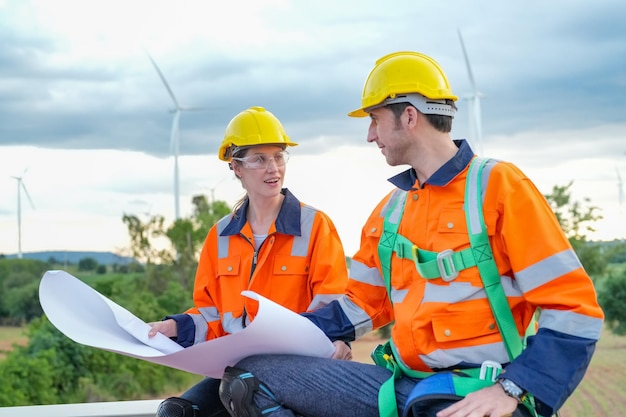
<instances>
[{"instance_id":1,"label":"green safety harness straps worn over the man's jacket","mask_svg":"<svg viewBox=\"0 0 626 417\"><path fill-rule=\"evenodd\" d=\"M523 346L500 282L500 273L493 259L484 223L481 177L487 162L487 158L474 158L470 163L466 179L465 216L470 237L470 248L459 252L449 249L439 253L431 252L419 249L417 245L398 234L407 196L406 191L398 190L391 196L388 203L389 209L385 214L383 234L378 245L378 255L391 303L393 303L391 292L391 258L393 252L396 252L396 256L399 258L412 259L420 275L426 279L442 278L445 281L452 281L458 276L459 271L477 266L507 353L509 358L513 360L522 352ZM433 375L434 372L415 371L396 360L400 356L397 354L392 340L378 346L371 356L376 365L392 372L392 376L381 385L378 393L379 415L380 417L398 417L395 380L403 375L423 379ZM490 386L496 380L500 370L501 365L499 363L485 361L480 368L455 371L453 374L459 376L459 378L453 378L455 391L458 395L465 396L470 392ZM525 405L536 415L532 397L527 396L527 399Z\"/></svg>"}]
</instances>

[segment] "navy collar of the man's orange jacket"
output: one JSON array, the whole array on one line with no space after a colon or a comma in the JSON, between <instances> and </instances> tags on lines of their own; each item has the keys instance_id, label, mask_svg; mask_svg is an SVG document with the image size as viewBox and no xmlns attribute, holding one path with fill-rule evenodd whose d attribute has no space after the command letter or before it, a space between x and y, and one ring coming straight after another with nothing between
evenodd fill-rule
<instances>
[{"instance_id":1,"label":"navy collar of the man's orange jacket","mask_svg":"<svg viewBox=\"0 0 626 417\"><path fill-rule=\"evenodd\" d=\"M454 144L459 148L456 155L435 171L435 173L431 175L430 178L424 182L424 184L421 184L422 188L424 188L424 185L426 184L436 185L439 187L446 185L454 177L459 175L459 173L470 163L474 157L474 151L472 151L467 141L465 139L457 139L454 140ZM415 172L415 169L409 168L406 171L389 178L388 181L404 191L416 190L415 185L417 182L417 173Z\"/></svg>"}]
</instances>

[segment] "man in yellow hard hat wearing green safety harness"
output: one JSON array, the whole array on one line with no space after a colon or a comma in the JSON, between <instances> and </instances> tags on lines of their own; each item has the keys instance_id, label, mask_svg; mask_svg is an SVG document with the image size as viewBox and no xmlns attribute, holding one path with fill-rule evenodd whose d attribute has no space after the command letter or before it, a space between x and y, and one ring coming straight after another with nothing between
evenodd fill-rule
<instances>
[{"instance_id":1,"label":"man in yellow hard hat wearing green safety harness","mask_svg":"<svg viewBox=\"0 0 626 417\"><path fill-rule=\"evenodd\" d=\"M393 322L375 365L244 359L220 387L231 415L551 416L572 394L604 318L592 281L531 180L452 140L456 100L437 62L398 52L349 113L410 168L365 223L346 295L305 315L333 341Z\"/></svg>"}]
</instances>

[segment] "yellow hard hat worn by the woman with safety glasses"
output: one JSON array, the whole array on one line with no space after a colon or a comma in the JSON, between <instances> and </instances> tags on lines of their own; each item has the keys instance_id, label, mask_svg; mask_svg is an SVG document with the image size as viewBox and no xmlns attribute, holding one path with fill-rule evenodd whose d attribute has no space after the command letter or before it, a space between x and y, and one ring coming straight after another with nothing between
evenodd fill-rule
<instances>
[{"instance_id":1,"label":"yellow hard hat worn by the woman with safety glasses","mask_svg":"<svg viewBox=\"0 0 626 417\"><path fill-rule=\"evenodd\" d=\"M289 139L276 116L263 107L253 106L233 117L228 123L217 156L222 161L230 162L236 148L274 144L297 145Z\"/></svg>"}]
</instances>

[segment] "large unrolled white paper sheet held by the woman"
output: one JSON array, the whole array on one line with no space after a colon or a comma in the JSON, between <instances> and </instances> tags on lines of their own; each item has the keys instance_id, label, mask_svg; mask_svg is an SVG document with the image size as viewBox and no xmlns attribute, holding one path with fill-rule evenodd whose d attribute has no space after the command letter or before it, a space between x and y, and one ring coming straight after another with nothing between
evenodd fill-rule
<instances>
[{"instance_id":1,"label":"large unrolled white paper sheet held by the woman","mask_svg":"<svg viewBox=\"0 0 626 417\"><path fill-rule=\"evenodd\" d=\"M183 349L160 333L148 338L147 323L65 271L46 272L39 285L44 313L75 342L200 375L221 378L227 365L260 353L333 354L333 344L308 319L254 292L242 295L259 302L250 325Z\"/></svg>"}]
</instances>

